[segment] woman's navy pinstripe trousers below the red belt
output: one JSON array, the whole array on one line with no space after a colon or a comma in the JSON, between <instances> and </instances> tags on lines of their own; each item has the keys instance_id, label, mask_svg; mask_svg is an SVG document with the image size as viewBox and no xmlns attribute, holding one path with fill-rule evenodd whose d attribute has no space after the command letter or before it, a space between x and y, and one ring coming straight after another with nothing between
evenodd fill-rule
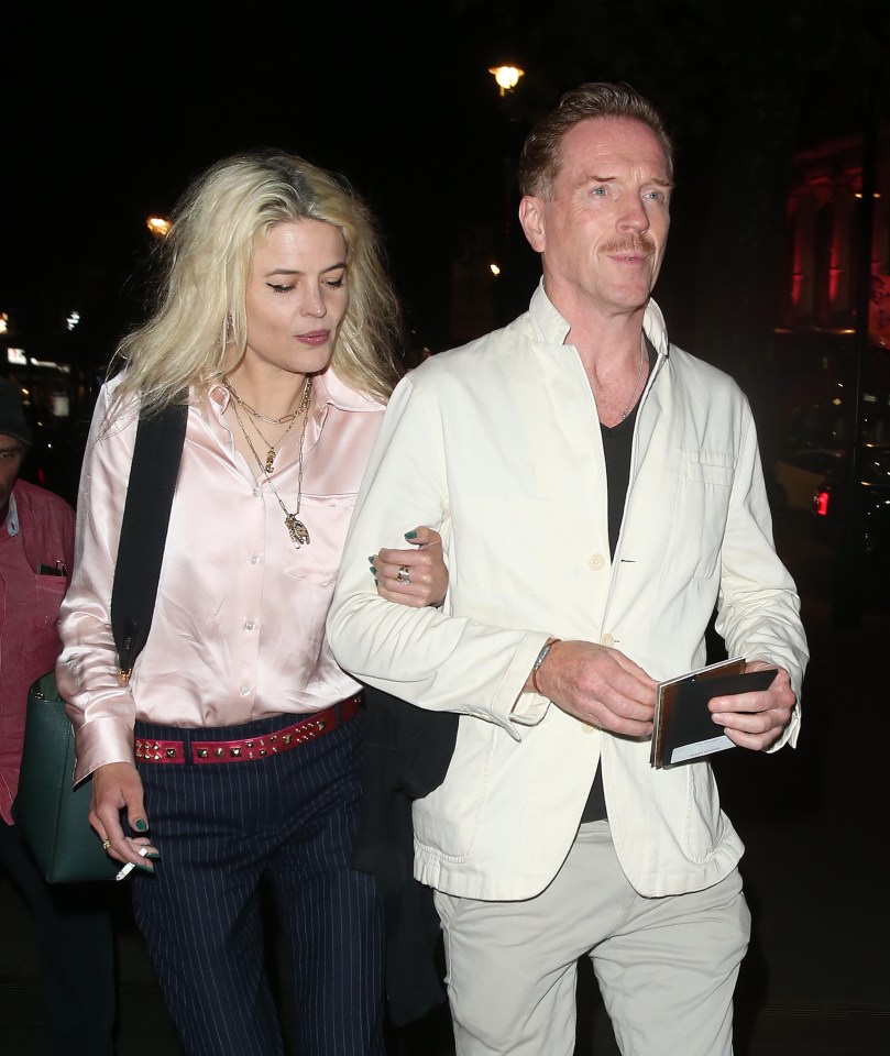
<instances>
[{"instance_id":1,"label":"woman's navy pinstripe trousers below the red belt","mask_svg":"<svg viewBox=\"0 0 890 1056\"><path fill-rule=\"evenodd\" d=\"M261 737L290 716L216 729L138 723L136 736ZM383 919L349 868L364 712L292 751L231 763L140 763L156 876L133 906L187 1056L284 1053L260 884L289 950L301 1056L383 1056Z\"/></svg>"}]
</instances>

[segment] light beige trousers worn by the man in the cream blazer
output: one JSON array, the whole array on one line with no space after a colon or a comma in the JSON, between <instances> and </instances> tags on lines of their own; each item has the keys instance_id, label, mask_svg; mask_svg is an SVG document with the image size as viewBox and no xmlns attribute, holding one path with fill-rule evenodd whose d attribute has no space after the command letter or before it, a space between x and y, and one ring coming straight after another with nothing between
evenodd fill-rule
<instances>
[{"instance_id":1,"label":"light beige trousers worn by the man in the cream blazer","mask_svg":"<svg viewBox=\"0 0 890 1056\"><path fill-rule=\"evenodd\" d=\"M624 1056L730 1056L750 914L738 870L645 899L607 822L583 825L550 886L523 902L436 893L457 1056L572 1056L578 959L589 955Z\"/></svg>"}]
</instances>

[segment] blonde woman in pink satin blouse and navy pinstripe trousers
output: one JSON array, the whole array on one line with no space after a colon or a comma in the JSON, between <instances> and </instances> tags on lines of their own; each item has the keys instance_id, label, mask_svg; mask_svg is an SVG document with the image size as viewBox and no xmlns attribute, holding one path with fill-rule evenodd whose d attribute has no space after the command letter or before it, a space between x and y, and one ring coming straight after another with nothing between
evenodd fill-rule
<instances>
[{"instance_id":1,"label":"blonde woman in pink satin blouse and navy pinstripe trousers","mask_svg":"<svg viewBox=\"0 0 890 1056\"><path fill-rule=\"evenodd\" d=\"M370 877L347 865L361 688L334 663L325 617L398 376L398 306L366 208L295 156L211 167L163 254L157 308L119 350L124 370L102 389L84 462L57 670L75 780L92 774L90 822L108 854L141 867L135 920L189 1056L283 1052L263 965L264 876L301 1053L382 1053L380 909ZM136 416L183 391L154 620L122 685L109 598ZM388 597L438 603L438 537L407 535L417 549L372 573ZM183 761L134 756L134 736L180 745ZM246 758L273 736L287 750Z\"/></svg>"}]
</instances>

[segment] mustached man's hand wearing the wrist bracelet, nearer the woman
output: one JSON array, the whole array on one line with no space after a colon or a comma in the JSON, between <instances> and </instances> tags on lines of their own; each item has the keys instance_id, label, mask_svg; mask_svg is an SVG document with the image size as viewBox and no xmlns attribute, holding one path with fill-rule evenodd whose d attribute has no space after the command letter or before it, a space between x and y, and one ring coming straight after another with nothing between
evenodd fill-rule
<instances>
[{"instance_id":1,"label":"mustached man's hand wearing the wrist bracelet, nearer the woman","mask_svg":"<svg viewBox=\"0 0 890 1056\"><path fill-rule=\"evenodd\" d=\"M557 641L537 676L541 693L582 723L625 737L651 736L657 683L617 649ZM534 689L530 675L525 689Z\"/></svg>"}]
</instances>

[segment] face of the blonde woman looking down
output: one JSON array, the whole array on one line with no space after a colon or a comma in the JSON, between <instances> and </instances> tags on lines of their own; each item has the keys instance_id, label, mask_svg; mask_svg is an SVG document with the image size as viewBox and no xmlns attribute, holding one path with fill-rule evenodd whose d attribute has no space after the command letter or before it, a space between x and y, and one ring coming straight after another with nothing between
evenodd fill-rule
<instances>
[{"instance_id":1,"label":"face of the blonde woman looking down","mask_svg":"<svg viewBox=\"0 0 890 1056\"><path fill-rule=\"evenodd\" d=\"M340 229L320 220L275 224L248 278L245 364L270 377L323 371L348 305Z\"/></svg>"}]
</instances>

